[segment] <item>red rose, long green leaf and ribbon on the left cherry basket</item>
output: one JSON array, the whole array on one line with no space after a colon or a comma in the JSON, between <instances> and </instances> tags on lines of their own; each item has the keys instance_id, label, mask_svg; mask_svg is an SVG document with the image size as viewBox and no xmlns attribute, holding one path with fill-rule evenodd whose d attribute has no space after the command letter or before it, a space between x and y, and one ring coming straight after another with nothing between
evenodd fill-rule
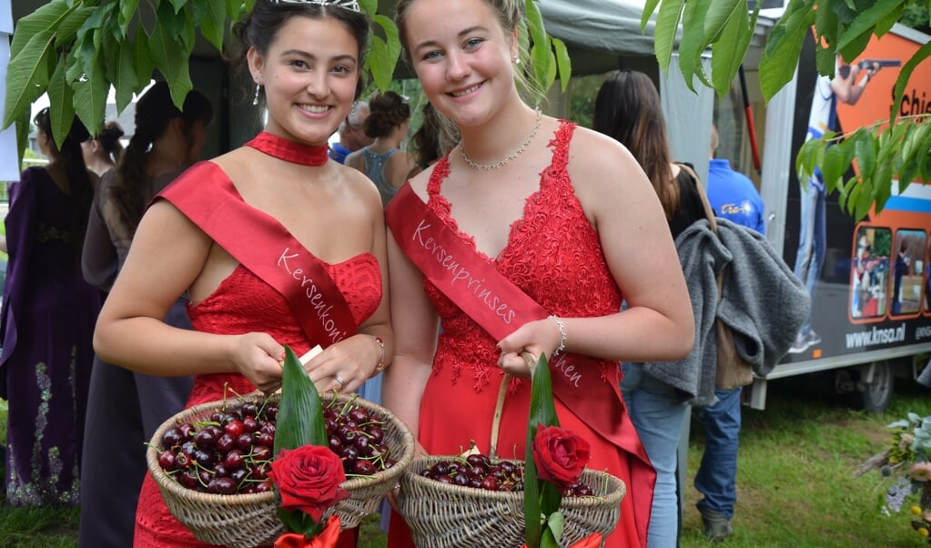
<instances>
[{"instance_id":1,"label":"red rose, long green leaf and ribbon on the left cherry basket","mask_svg":"<svg viewBox=\"0 0 931 548\"><path fill-rule=\"evenodd\" d=\"M339 515L324 512L349 497L343 461L329 447L320 395L297 355L285 346L278 403L276 458L268 477L275 484L278 515L289 531L275 548L330 548L340 534Z\"/></svg>"}]
</instances>

